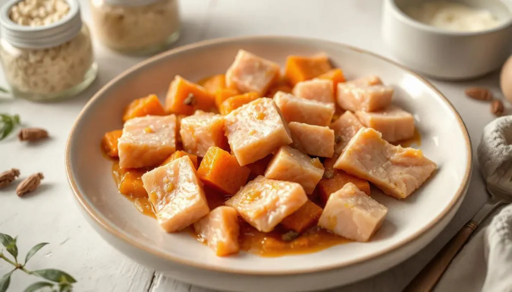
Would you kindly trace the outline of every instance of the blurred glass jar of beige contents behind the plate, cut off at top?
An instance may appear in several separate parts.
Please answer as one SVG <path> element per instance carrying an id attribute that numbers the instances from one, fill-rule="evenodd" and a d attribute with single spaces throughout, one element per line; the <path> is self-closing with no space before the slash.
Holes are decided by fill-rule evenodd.
<path id="1" fill-rule="evenodd" d="M 95 32 L 105 46 L 152 54 L 179 37 L 178 0 L 91 0 Z"/>

